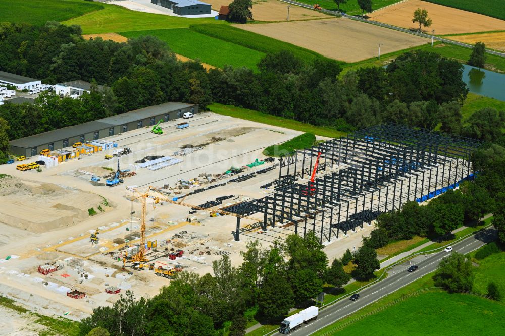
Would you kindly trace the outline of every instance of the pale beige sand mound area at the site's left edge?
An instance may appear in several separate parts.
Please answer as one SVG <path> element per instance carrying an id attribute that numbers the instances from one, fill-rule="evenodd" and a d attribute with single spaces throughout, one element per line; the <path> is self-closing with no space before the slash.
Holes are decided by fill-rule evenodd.
<path id="1" fill-rule="evenodd" d="M 35 233 L 75 225 L 89 218 L 88 209 L 105 209 L 103 202 L 99 195 L 76 188 L 0 179 L 0 223 Z"/>

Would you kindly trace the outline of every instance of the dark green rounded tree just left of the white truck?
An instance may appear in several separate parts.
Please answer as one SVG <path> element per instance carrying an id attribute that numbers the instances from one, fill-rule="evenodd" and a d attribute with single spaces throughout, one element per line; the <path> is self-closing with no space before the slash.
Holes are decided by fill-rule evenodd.
<path id="1" fill-rule="evenodd" d="M 258 306 L 260 313 L 267 319 L 276 319 L 286 315 L 294 306 L 294 295 L 287 279 L 277 273 L 266 277 Z"/>

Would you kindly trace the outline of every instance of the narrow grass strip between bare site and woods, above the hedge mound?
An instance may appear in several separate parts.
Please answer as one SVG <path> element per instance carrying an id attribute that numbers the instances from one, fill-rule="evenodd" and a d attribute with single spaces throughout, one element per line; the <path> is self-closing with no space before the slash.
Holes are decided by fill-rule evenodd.
<path id="1" fill-rule="evenodd" d="M 234 118 L 254 121 L 257 123 L 284 127 L 295 131 L 312 133 L 322 137 L 338 138 L 340 136 L 346 135 L 345 132 L 340 132 L 329 127 L 314 126 L 306 123 L 301 123 L 299 121 L 272 116 L 266 113 L 232 105 L 213 103 L 209 105 L 208 108 L 212 112 L 223 116 L 230 116 Z"/>

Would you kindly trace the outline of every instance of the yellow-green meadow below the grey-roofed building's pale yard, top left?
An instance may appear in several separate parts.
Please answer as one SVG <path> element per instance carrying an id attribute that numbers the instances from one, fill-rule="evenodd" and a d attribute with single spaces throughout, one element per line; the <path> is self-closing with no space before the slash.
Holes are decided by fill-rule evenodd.
<path id="1" fill-rule="evenodd" d="M 136 12 L 121 6 L 103 4 L 104 9 L 64 21 L 66 25 L 79 25 L 84 34 L 118 33 L 132 30 L 188 28 L 191 24 L 226 24 L 214 18 L 187 19 L 162 14 Z"/>

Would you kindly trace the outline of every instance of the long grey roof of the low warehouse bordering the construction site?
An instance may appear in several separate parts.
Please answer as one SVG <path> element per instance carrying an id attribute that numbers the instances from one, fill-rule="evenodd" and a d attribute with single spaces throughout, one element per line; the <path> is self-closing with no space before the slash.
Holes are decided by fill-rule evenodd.
<path id="1" fill-rule="evenodd" d="M 160 105 L 154 105 L 125 112 L 120 115 L 111 116 L 95 121 L 90 121 L 84 124 L 68 126 L 58 130 L 48 131 L 40 134 L 31 135 L 29 137 L 9 141 L 11 146 L 30 148 L 46 143 L 51 143 L 71 137 L 79 136 L 98 130 L 107 129 L 109 127 L 120 126 L 138 120 L 162 115 L 167 112 L 176 111 L 178 109 L 194 106 L 193 104 L 185 104 L 181 102 L 168 102 Z"/>

